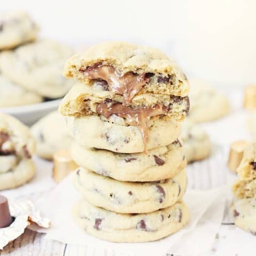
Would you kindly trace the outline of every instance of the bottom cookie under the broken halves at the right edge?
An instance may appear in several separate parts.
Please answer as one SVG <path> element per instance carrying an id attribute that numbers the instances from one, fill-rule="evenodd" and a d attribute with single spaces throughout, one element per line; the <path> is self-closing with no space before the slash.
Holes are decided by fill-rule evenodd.
<path id="1" fill-rule="evenodd" d="M 243 198 L 236 200 L 231 206 L 231 214 L 235 225 L 256 235 L 256 198 Z"/>

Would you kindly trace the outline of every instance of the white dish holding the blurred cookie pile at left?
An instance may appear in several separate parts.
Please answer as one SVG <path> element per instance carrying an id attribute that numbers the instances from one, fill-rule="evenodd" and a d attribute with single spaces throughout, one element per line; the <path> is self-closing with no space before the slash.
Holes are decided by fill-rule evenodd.
<path id="1" fill-rule="evenodd" d="M 33 105 L 0 108 L 0 112 L 17 117 L 26 125 L 34 124 L 38 119 L 57 110 L 62 99 L 45 101 Z"/>

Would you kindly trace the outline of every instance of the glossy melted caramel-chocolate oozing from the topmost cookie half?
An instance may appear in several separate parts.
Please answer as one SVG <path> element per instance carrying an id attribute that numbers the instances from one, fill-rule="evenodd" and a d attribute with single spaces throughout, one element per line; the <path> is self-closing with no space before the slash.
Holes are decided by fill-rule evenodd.
<path id="1" fill-rule="evenodd" d="M 145 74 L 126 73 L 119 75 L 111 66 L 94 65 L 87 67 L 83 71 L 84 75 L 90 79 L 102 79 L 107 81 L 110 91 L 123 95 L 125 106 L 128 106 L 132 98 L 141 90 L 149 78 Z"/>

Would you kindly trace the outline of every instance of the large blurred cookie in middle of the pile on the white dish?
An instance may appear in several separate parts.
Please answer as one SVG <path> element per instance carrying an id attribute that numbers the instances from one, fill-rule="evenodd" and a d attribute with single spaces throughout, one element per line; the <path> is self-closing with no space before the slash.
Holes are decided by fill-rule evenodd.
<path id="1" fill-rule="evenodd" d="M 43 97 L 59 98 L 73 85 L 62 76 L 65 60 L 73 54 L 68 46 L 41 39 L 0 53 L 0 70 L 14 83 Z"/>

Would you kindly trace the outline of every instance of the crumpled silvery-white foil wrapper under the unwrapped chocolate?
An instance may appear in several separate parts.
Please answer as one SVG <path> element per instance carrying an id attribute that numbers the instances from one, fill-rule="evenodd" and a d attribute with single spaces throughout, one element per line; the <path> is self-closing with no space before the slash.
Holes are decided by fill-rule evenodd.
<path id="1" fill-rule="evenodd" d="M 29 201 L 9 201 L 13 222 L 9 227 L 0 229 L 0 250 L 25 232 L 30 223 L 36 223 L 42 228 L 50 227 L 50 220 L 43 218 L 34 204 Z"/>

